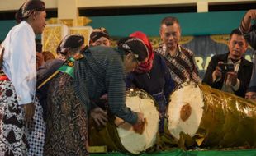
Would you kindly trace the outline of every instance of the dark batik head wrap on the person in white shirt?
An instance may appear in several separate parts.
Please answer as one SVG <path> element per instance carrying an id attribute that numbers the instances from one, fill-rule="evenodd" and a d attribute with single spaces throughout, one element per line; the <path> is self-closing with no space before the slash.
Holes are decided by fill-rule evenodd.
<path id="1" fill-rule="evenodd" d="M 17 23 L 20 23 L 31 16 L 33 11 L 45 11 L 45 2 L 40 0 L 27 0 L 24 2 L 15 14 Z"/>

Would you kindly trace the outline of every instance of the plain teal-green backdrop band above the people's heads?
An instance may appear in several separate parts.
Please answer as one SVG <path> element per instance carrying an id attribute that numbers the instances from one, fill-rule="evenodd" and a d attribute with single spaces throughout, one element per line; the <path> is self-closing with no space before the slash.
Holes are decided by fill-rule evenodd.
<path id="1" fill-rule="evenodd" d="M 111 36 L 127 36 L 140 30 L 148 36 L 159 36 L 159 23 L 165 16 L 178 17 L 183 35 L 230 34 L 239 26 L 245 11 L 217 11 L 206 13 L 150 14 L 131 16 L 92 16 L 93 28 L 105 27 Z M 16 21 L 0 20 L 0 40 L 16 25 Z M 40 36 L 37 36 L 40 39 Z"/>

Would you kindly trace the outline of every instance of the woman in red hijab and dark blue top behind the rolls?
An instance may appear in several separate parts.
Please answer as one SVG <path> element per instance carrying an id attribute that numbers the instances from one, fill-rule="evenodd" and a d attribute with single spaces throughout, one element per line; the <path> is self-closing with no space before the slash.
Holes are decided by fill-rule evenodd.
<path id="1" fill-rule="evenodd" d="M 159 106 L 161 114 L 159 122 L 159 132 L 164 132 L 164 113 L 166 111 L 168 94 L 174 88 L 173 80 L 171 79 L 168 68 L 164 62 L 164 58 L 158 53 L 154 53 L 153 48 L 146 34 L 136 31 L 130 34 L 130 37 L 141 39 L 148 48 L 149 57 L 141 63 L 140 66 L 135 68 L 127 76 L 127 88 L 144 89 L 147 93 L 151 94 Z"/>

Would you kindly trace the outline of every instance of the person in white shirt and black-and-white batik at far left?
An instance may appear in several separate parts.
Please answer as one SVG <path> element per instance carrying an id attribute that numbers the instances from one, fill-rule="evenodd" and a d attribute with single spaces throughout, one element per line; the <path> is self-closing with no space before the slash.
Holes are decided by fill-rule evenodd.
<path id="1" fill-rule="evenodd" d="M 43 32 L 45 17 L 44 2 L 27 0 L 17 11 L 18 25 L 2 43 L 5 50 L 0 80 L 0 155 L 43 154 L 45 123 L 35 98 L 35 34 Z"/>

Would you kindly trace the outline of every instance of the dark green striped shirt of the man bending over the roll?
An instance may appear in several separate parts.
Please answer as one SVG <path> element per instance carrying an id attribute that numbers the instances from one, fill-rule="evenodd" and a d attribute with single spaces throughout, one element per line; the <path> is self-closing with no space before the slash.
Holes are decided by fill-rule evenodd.
<path id="1" fill-rule="evenodd" d="M 78 99 L 90 109 L 94 105 L 91 101 L 107 93 L 110 112 L 135 124 L 137 115 L 126 108 L 124 52 L 97 46 L 83 54 L 85 57 L 75 61 L 74 67 L 74 90 Z"/>

